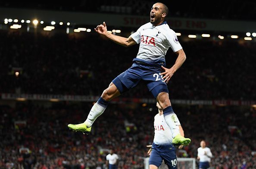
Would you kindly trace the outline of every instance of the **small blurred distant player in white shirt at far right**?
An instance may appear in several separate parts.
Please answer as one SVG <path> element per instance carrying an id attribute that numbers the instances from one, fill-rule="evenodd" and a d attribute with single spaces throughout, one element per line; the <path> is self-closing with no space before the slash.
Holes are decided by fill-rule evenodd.
<path id="1" fill-rule="evenodd" d="M 197 148 L 197 159 L 199 160 L 199 169 L 208 169 L 212 158 L 211 150 L 206 147 L 204 140 L 200 142 L 200 148 Z"/>

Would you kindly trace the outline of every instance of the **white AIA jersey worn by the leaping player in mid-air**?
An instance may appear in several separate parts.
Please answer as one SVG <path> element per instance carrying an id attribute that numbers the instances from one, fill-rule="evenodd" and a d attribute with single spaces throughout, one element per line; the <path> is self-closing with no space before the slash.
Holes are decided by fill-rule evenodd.
<path id="1" fill-rule="evenodd" d="M 158 26 L 153 26 L 150 22 L 144 24 L 131 34 L 131 38 L 137 44 L 140 43 L 136 58 L 149 62 L 156 59 L 165 60 L 165 54 L 169 47 L 174 52 L 182 49 L 175 32 L 170 29 L 166 22 Z"/>

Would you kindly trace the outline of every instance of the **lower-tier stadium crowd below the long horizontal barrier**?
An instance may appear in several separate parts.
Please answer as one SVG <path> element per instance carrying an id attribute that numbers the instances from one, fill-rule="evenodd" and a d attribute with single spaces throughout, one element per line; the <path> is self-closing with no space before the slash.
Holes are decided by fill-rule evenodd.
<path id="1" fill-rule="evenodd" d="M 153 141 L 155 105 L 110 104 L 92 133 L 68 130 L 82 122 L 92 103 L 33 102 L 0 106 L 0 169 L 106 169 L 109 149 L 119 169 L 144 169 L 146 145 Z M 151 111 L 150 111 L 150 108 Z M 197 157 L 202 139 L 211 148 L 214 169 L 255 169 L 256 110 L 237 107 L 174 106 L 191 145 L 179 157 Z M 186 155 L 187 154 L 187 155 Z"/>

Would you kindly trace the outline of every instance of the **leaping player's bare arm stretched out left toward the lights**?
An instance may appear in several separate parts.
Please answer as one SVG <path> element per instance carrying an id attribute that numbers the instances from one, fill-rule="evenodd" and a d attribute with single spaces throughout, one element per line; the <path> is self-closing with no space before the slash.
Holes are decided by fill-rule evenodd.
<path id="1" fill-rule="evenodd" d="M 98 25 L 96 28 L 94 28 L 94 30 L 99 34 L 106 36 L 108 39 L 112 40 L 113 42 L 125 47 L 129 47 L 131 45 L 137 44 L 134 41 L 134 39 L 131 38 L 131 36 L 129 36 L 128 38 L 125 38 L 122 36 L 117 36 L 117 35 L 113 35 L 112 33 L 109 33 L 107 31 L 105 22 L 103 22 L 103 24 Z"/>

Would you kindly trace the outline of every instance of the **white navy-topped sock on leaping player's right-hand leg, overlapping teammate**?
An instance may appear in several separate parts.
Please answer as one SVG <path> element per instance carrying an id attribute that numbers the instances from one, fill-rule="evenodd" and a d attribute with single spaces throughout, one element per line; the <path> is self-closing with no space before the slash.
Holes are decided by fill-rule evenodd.
<path id="1" fill-rule="evenodd" d="M 181 124 L 177 115 L 173 112 L 172 106 L 168 106 L 165 109 L 163 109 L 163 115 L 166 124 L 170 127 L 172 131 L 172 138 L 175 138 L 177 134 L 180 134 L 179 125 Z"/>

